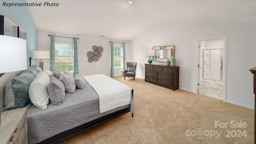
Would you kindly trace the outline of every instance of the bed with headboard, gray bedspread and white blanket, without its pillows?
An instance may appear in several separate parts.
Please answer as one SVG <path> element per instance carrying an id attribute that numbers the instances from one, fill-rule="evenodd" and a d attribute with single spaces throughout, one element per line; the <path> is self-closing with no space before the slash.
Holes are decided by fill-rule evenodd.
<path id="1" fill-rule="evenodd" d="M 18 75 L 19 72 L 10 72 L 0 77 L 2 109 L 5 84 Z M 83 78 L 85 88 L 76 88 L 74 93 L 66 92 L 62 105 L 49 103 L 46 109 L 35 105 L 27 109 L 29 144 L 60 142 L 130 111 L 133 117 L 132 89 L 103 74 Z M 110 101 L 120 97 L 125 97 L 124 101 Z"/>

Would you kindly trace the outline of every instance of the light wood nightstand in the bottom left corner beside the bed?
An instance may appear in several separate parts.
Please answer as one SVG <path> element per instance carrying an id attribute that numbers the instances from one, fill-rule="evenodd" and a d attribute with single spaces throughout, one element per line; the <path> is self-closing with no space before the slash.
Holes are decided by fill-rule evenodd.
<path id="1" fill-rule="evenodd" d="M 18 108 L 1 113 L 0 144 L 27 144 L 27 108 Z"/>

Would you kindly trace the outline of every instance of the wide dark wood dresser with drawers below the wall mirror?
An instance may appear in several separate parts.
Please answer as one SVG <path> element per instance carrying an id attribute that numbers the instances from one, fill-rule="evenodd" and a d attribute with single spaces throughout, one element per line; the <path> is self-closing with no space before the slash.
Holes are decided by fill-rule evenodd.
<path id="1" fill-rule="evenodd" d="M 145 64 L 145 82 L 152 82 L 175 91 L 179 88 L 179 68 L 180 66 Z"/>

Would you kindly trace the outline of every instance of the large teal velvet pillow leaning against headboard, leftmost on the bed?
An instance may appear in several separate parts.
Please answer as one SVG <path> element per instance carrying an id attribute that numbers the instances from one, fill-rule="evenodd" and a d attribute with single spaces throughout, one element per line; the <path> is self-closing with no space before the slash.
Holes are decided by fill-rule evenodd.
<path id="1" fill-rule="evenodd" d="M 7 82 L 4 96 L 5 111 L 31 106 L 28 89 L 37 73 L 34 68 L 28 68 Z"/>

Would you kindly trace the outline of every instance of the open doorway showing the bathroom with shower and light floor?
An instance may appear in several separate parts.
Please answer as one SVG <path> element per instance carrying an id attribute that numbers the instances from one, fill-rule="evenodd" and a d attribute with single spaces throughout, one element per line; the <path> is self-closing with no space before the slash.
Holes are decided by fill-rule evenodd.
<path id="1" fill-rule="evenodd" d="M 226 37 L 196 41 L 198 93 L 225 101 Z"/>

